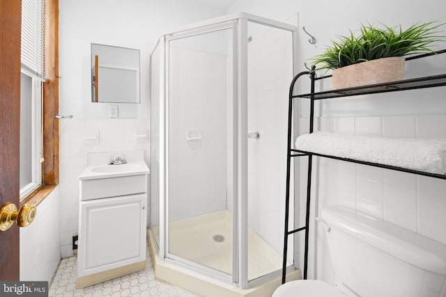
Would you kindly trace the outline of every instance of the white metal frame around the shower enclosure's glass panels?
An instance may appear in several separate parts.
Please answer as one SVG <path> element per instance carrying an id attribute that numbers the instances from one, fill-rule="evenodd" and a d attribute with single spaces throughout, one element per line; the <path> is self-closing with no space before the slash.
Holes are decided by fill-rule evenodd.
<path id="1" fill-rule="evenodd" d="M 247 191 L 247 24 L 254 22 L 272 28 L 291 31 L 293 45 L 293 76 L 298 73 L 297 45 L 298 35 L 295 26 L 276 22 L 271 19 L 237 13 L 225 17 L 217 17 L 208 21 L 183 26 L 183 28 L 162 35 L 160 46 L 160 257 L 166 262 L 192 268 L 199 273 L 208 273 L 229 283 L 237 284 L 241 289 L 249 287 L 280 275 L 281 269 L 268 273 L 254 280 L 248 280 L 248 191 Z M 233 93 L 233 131 L 232 131 L 232 179 L 233 186 L 233 257 L 232 275 L 203 266 L 190 260 L 169 253 L 169 42 L 194 35 L 212 33 L 226 29 L 232 30 L 232 93 Z M 156 47 L 156 46 L 155 46 Z M 291 78 L 290 78 L 291 79 Z M 299 109 L 296 108 L 296 111 Z M 296 125 L 296 124 L 295 124 Z M 285 128 L 285 127 L 284 127 Z M 295 129 L 295 131 L 297 131 Z M 297 168 L 297 167 L 295 167 Z M 295 187 L 296 188 L 296 187 Z M 296 191 L 295 191 L 296 192 Z M 294 222 L 298 217 L 298 204 L 293 209 Z M 297 236 L 295 236 L 297 237 Z M 296 246 L 298 239 L 295 238 Z M 294 263 L 289 269 L 296 267 L 298 249 L 294 248 Z"/>

